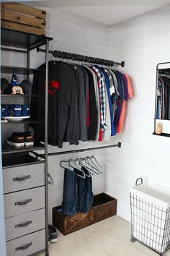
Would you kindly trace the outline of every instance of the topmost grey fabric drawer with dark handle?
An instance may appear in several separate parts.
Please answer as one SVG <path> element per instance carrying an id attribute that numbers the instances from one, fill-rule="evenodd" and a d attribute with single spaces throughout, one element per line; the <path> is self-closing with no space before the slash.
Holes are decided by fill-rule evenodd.
<path id="1" fill-rule="evenodd" d="M 3 169 L 4 194 L 45 184 L 44 163 Z"/>

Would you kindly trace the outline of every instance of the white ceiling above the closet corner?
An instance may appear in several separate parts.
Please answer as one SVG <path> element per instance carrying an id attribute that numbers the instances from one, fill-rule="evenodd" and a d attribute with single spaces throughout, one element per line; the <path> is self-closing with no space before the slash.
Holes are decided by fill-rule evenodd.
<path id="1" fill-rule="evenodd" d="M 165 7 L 170 0 L 42 0 L 34 7 L 53 7 L 90 20 L 113 25 L 146 12 Z"/>

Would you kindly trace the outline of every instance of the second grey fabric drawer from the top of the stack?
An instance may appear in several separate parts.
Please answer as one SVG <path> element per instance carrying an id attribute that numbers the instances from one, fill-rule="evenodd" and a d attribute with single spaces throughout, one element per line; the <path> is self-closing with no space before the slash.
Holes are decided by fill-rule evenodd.
<path id="1" fill-rule="evenodd" d="M 5 218 L 45 208 L 45 187 L 4 195 Z"/>

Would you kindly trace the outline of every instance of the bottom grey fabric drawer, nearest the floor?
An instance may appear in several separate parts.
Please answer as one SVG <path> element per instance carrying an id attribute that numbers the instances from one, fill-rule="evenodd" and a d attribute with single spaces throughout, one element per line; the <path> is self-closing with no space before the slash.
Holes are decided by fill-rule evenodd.
<path id="1" fill-rule="evenodd" d="M 45 249 L 45 229 L 6 242 L 6 256 L 28 256 Z"/>

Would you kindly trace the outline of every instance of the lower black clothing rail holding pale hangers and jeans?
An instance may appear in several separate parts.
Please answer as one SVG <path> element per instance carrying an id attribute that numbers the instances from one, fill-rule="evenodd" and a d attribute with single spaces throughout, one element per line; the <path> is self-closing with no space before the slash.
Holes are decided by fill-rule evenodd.
<path id="1" fill-rule="evenodd" d="M 95 147 L 95 148 L 82 148 L 79 150 L 68 150 L 68 151 L 63 151 L 63 152 L 53 152 L 53 153 L 48 153 L 48 156 L 51 155 L 65 155 L 65 154 L 71 154 L 71 153 L 79 153 L 79 152 L 85 152 L 85 151 L 89 151 L 89 150 L 99 150 L 99 149 L 105 149 L 105 148 L 121 148 L 121 142 L 118 142 L 115 145 L 108 145 L 108 146 L 102 146 L 102 147 Z M 33 154 L 36 155 L 36 157 L 42 157 L 44 158 L 44 155 L 38 154 L 36 152 L 32 152 Z"/>

